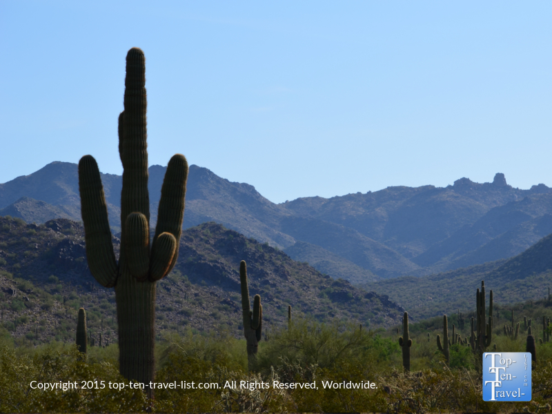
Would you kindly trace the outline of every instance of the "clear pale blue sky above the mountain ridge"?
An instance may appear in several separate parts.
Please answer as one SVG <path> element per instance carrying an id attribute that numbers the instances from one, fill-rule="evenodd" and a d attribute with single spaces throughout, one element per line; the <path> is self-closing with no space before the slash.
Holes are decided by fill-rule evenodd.
<path id="1" fill-rule="evenodd" d="M 161 5 L 159 5 L 161 3 Z M 0 182 L 121 174 L 125 57 L 152 164 L 277 203 L 455 179 L 552 186 L 551 1 L 0 1 Z"/>

